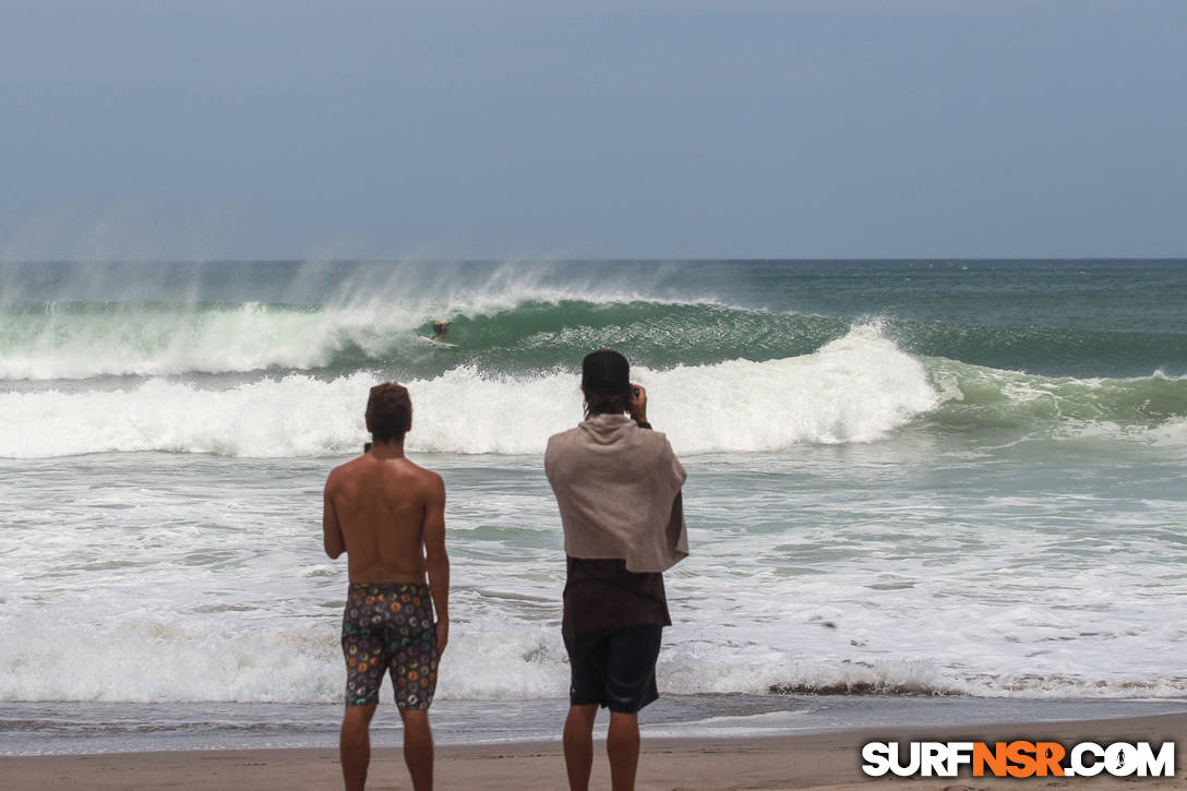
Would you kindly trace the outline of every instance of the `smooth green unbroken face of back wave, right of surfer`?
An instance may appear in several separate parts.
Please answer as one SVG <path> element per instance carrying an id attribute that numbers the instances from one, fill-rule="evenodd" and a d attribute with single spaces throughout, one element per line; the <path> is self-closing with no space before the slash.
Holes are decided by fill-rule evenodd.
<path id="1" fill-rule="evenodd" d="M 648 367 L 776 360 L 811 354 L 855 325 L 875 323 L 910 354 L 1047 375 L 1187 374 L 1187 336 L 1176 333 L 1001 328 L 858 319 L 726 305 L 633 302 L 527 303 L 514 311 L 458 316 L 450 340 L 493 367 L 570 368 L 595 348 L 616 348 Z M 477 361 L 477 360 L 476 360 Z"/>

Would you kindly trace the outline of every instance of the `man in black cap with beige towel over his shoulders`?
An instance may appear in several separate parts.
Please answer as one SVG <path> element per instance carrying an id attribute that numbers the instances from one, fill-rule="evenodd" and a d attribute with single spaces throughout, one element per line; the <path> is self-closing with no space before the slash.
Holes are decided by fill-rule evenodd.
<path id="1" fill-rule="evenodd" d="M 671 626 L 664 571 L 687 557 L 684 467 L 647 423 L 647 392 L 630 366 L 602 349 L 582 361 L 585 420 L 553 435 L 544 456 L 565 531 L 561 631 L 572 681 L 565 765 L 589 789 L 594 720 L 610 709 L 607 753 L 614 791 L 635 787 L 641 708 L 659 697 L 655 660 Z M 624 412 L 629 413 L 627 417 Z"/>

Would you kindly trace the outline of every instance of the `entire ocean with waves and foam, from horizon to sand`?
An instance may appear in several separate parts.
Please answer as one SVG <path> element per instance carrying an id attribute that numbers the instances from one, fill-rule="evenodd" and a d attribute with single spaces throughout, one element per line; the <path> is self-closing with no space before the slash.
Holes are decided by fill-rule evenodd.
<path id="1" fill-rule="evenodd" d="M 688 470 L 645 733 L 1183 710 L 1183 305 L 1185 260 L 0 265 L 0 753 L 336 743 L 322 486 L 385 380 L 447 488 L 438 739 L 559 738 L 541 461 L 603 347 Z"/>

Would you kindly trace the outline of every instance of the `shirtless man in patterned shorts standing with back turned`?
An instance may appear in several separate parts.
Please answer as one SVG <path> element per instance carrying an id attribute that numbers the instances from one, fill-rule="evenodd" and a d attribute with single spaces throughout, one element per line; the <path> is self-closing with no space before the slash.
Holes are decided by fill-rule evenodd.
<path id="1" fill-rule="evenodd" d="M 370 721 L 385 672 L 392 676 L 404 720 L 412 786 L 433 787 L 429 704 L 449 640 L 445 485 L 405 457 L 404 435 L 411 428 L 408 391 L 392 382 L 372 387 L 370 448 L 335 468 L 325 482 L 325 553 L 337 558 L 345 552 L 350 571 L 342 618 L 347 711 L 339 742 L 347 791 L 361 791 L 367 783 Z"/>

